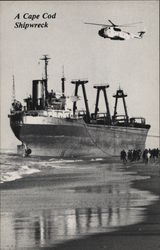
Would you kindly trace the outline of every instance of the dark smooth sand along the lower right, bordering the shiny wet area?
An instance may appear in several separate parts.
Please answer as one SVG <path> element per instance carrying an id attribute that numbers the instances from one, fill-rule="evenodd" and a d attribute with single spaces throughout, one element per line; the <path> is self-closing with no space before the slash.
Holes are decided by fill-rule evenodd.
<path id="1" fill-rule="evenodd" d="M 148 165 L 134 163 L 127 171 L 136 171 L 150 179 L 134 181 L 132 187 L 150 191 L 159 196 L 158 201 L 147 206 L 142 223 L 118 228 L 118 231 L 100 233 L 84 239 L 39 249 L 54 250 L 159 250 L 160 249 L 160 162 Z"/>

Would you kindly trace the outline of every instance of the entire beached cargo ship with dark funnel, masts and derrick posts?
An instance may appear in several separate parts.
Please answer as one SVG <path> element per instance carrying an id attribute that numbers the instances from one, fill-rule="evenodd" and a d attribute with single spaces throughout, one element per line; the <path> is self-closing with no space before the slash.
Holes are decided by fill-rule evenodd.
<path id="1" fill-rule="evenodd" d="M 122 89 L 115 98 L 114 113 L 111 115 L 106 89 L 109 85 L 94 86 L 97 91 L 94 113 L 90 113 L 85 84 L 87 80 L 73 80 L 74 96 L 65 95 L 65 77 L 61 78 L 62 93 L 48 91 L 45 55 L 45 78 L 33 80 L 32 95 L 24 99 L 26 105 L 14 99 L 9 114 L 10 126 L 22 142 L 19 149 L 26 155 L 52 157 L 107 157 L 119 155 L 121 150 L 145 148 L 150 125 L 142 117 L 129 118 Z M 82 87 L 85 111 L 77 109 L 78 90 Z M 106 112 L 99 112 L 99 98 L 103 93 Z M 73 102 L 67 107 L 67 98 Z M 124 105 L 124 115 L 117 114 L 118 100 Z"/>

